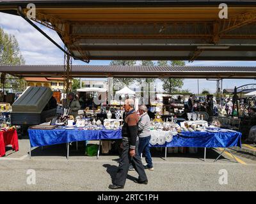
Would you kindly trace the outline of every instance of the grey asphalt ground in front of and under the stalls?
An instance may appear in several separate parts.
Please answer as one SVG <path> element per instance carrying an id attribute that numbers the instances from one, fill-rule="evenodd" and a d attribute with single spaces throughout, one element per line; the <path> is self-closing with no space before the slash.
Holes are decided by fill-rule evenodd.
<path id="1" fill-rule="evenodd" d="M 28 139 L 19 140 L 19 151 L 7 147 L 0 158 L 0 191 L 113 191 L 108 189 L 118 168 L 118 155 L 84 156 L 83 143 L 76 150 L 70 147 L 66 157 L 65 145 L 33 149 L 29 159 Z M 221 149 L 204 149 L 197 154 L 167 154 L 152 150 L 154 171 L 147 170 L 148 184 L 136 184 L 136 171 L 129 171 L 124 189 L 118 191 L 255 191 L 256 161 L 236 156 L 238 163 Z M 145 158 L 143 158 L 145 163 Z M 35 184 L 28 182 L 29 170 L 35 172 Z M 225 172 L 225 173 L 223 173 Z M 223 182 L 223 175 L 225 182 Z M 222 178 L 222 179 L 221 179 Z M 222 180 L 222 182 L 220 182 Z"/>

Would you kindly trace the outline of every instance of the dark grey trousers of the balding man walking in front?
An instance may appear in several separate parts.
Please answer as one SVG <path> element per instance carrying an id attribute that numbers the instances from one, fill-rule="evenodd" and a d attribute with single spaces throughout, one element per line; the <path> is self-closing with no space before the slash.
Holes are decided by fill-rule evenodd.
<path id="1" fill-rule="evenodd" d="M 139 141 L 136 142 L 136 149 L 135 149 L 136 154 L 134 157 L 131 158 L 129 154 L 130 144 L 129 142 L 123 141 L 123 151 L 120 158 L 116 177 L 113 180 L 113 184 L 116 184 L 118 186 L 124 186 L 130 163 L 132 163 L 132 166 L 134 166 L 134 169 L 139 174 L 139 180 L 140 181 L 147 180 L 147 175 L 145 173 L 143 164 L 141 163 L 141 158 L 138 154 L 138 143 Z"/>

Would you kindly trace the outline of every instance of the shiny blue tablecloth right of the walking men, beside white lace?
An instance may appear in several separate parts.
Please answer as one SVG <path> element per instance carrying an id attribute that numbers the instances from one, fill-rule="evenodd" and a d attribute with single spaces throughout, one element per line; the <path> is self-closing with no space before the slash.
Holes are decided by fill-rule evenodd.
<path id="1" fill-rule="evenodd" d="M 182 132 L 173 136 L 171 142 L 164 145 L 150 145 L 150 147 L 241 147 L 239 132 Z"/>

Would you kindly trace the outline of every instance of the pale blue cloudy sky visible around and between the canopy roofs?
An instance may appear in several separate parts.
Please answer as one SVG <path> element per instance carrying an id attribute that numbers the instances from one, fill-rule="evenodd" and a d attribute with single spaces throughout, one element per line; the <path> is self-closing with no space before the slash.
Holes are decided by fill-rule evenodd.
<path id="1" fill-rule="evenodd" d="M 63 46 L 58 34 L 51 29 L 39 25 L 52 39 Z M 26 20 L 21 17 L 0 13 L 0 27 L 6 33 L 15 35 L 19 41 L 20 50 L 26 60 L 26 64 L 63 64 L 63 53 L 47 40 L 41 33 L 36 31 Z M 91 65 L 108 65 L 110 61 L 91 61 Z M 73 61 L 72 64 L 86 64 L 81 61 Z M 137 62 L 140 64 L 140 61 Z M 256 66 L 256 62 L 239 61 L 195 61 L 186 62 L 188 66 Z M 243 84 L 256 83 L 255 80 L 223 80 L 223 89 L 234 88 Z M 200 92 L 204 89 L 215 92 L 216 82 L 199 80 Z M 185 79 L 182 89 L 189 89 L 197 93 L 197 79 Z"/>

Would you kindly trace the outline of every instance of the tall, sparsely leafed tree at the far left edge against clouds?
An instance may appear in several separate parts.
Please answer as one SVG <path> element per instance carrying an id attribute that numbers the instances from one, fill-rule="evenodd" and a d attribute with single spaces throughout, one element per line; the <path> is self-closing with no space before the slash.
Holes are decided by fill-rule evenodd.
<path id="1" fill-rule="evenodd" d="M 0 27 L 0 65 L 21 65 L 25 60 L 20 52 L 19 43 L 15 36 L 4 33 Z M 23 79 L 15 79 L 11 75 L 5 76 L 5 88 L 13 88 L 15 91 L 24 91 L 26 83 Z M 3 84 L 0 85 L 3 87 Z"/>

